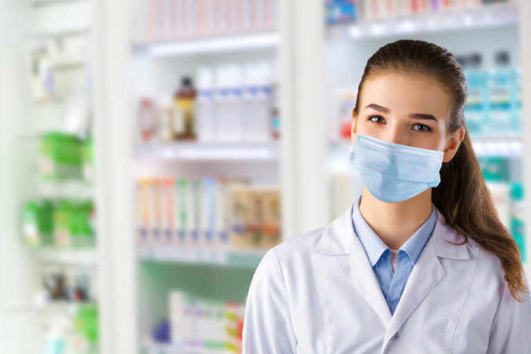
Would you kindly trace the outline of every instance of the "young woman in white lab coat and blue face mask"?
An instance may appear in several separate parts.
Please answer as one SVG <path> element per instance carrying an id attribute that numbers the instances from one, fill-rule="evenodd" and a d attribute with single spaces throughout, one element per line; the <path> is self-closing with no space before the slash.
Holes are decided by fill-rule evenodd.
<path id="1" fill-rule="evenodd" d="M 351 161 L 362 196 L 265 254 L 243 353 L 531 353 L 519 248 L 472 150 L 463 69 L 400 40 L 367 62 Z"/>

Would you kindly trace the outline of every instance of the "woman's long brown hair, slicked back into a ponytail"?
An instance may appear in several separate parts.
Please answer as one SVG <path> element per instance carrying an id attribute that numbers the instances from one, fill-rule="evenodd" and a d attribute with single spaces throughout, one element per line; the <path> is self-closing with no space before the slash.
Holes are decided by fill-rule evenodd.
<path id="1" fill-rule="evenodd" d="M 357 91 L 355 114 L 359 112 L 360 93 L 371 76 L 386 72 L 418 73 L 436 77 L 451 95 L 449 134 L 465 127 L 458 151 L 440 169 L 440 184 L 431 190 L 431 200 L 447 223 L 470 237 L 485 250 L 499 257 L 505 281 L 514 297 L 523 301 L 527 293 L 520 250 L 510 232 L 501 223 L 465 125 L 463 111 L 467 101 L 467 83 L 463 68 L 447 49 L 426 41 L 402 39 L 382 46 L 369 58 Z M 463 244 L 460 243 L 460 244 Z"/>

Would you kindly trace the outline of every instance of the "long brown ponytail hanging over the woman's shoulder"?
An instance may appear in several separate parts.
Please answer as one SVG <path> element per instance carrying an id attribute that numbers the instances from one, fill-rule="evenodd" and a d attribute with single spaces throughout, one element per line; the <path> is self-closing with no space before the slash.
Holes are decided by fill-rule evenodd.
<path id="1" fill-rule="evenodd" d="M 440 169 L 440 184 L 431 189 L 431 201 L 454 227 L 501 261 L 505 281 L 514 299 L 528 292 L 524 281 L 520 249 L 501 223 L 481 167 L 465 133 L 458 151 Z"/>

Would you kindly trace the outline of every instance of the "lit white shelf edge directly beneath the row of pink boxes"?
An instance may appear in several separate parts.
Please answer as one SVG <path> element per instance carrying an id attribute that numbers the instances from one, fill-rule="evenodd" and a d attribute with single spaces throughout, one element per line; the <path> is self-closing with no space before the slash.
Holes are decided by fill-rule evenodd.
<path id="1" fill-rule="evenodd" d="M 176 39 L 133 44 L 133 54 L 154 57 L 222 53 L 238 50 L 275 48 L 279 44 L 277 32 L 258 32 L 198 39 Z"/>

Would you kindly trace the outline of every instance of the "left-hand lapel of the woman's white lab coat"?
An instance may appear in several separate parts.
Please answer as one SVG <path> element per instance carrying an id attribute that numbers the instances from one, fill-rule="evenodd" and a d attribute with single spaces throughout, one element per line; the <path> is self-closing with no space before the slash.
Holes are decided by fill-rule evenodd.
<path id="1" fill-rule="evenodd" d="M 337 267 L 341 268 L 340 270 L 348 283 L 364 297 L 365 301 L 378 314 L 384 326 L 387 326 L 391 320 L 391 312 L 363 245 L 354 232 L 352 224 L 353 206 L 351 205 L 342 216 L 325 227 L 316 252 L 336 257 L 339 254 L 348 254 L 347 261 L 337 262 Z"/>

